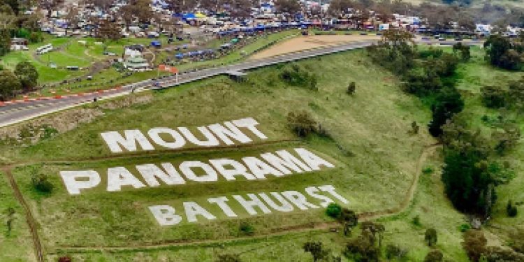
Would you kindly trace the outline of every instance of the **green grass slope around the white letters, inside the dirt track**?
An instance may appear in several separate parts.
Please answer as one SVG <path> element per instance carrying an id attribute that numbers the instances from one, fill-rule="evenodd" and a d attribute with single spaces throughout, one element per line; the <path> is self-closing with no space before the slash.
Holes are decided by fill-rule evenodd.
<path id="1" fill-rule="evenodd" d="M 181 88 L 154 93 L 153 100 L 145 105 L 132 105 L 115 110 L 89 105 L 88 108 L 92 110 L 103 110 L 104 115 L 90 124 L 78 126 L 77 129 L 55 138 L 20 150 L 12 149 L 13 154 L 6 154 L 13 156 L 9 161 L 65 161 L 65 166 L 60 163 L 38 163 L 14 170 L 17 182 L 42 226 L 42 239 L 46 243 L 46 249 L 53 253 L 61 250 L 61 247 L 68 246 L 133 247 L 187 239 L 235 238 L 238 235 L 238 219 L 220 217 L 219 221 L 184 223 L 172 228 L 160 228 L 147 211 L 147 206 L 154 203 L 168 203 L 180 209 L 180 203 L 186 199 L 203 203 L 202 200 L 205 201 L 205 198 L 210 196 L 285 189 L 303 190 L 309 185 L 333 184 L 349 199 L 348 208 L 357 212 L 384 210 L 399 205 L 414 173 L 419 172 L 414 169 L 423 146 L 434 143 L 425 131 L 418 136 L 409 135 L 407 132 L 412 121 L 428 122 L 428 110 L 418 99 L 403 94 L 393 75 L 373 66 L 363 51 L 308 59 L 300 61 L 300 64 L 306 68 L 316 68 L 321 64 L 325 68 L 326 73 L 319 75 L 318 92 L 289 87 L 277 81 L 280 66 L 262 68 L 249 73 L 247 82 L 236 83 L 225 77 L 194 82 Z M 345 94 L 347 84 L 351 81 L 357 84 L 354 96 Z M 297 143 L 277 143 L 240 150 L 162 152 L 160 155 L 144 154 L 142 157 L 129 156 L 124 159 L 94 160 L 89 163 L 75 160 L 112 155 L 99 136 L 103 131 L 136 128 L 147 130 L 154 126 L 194 128 L 240 117 L 255 117 L 261 123 L 263 133 L 275 142 L 294 138 L 286 125 L 286 115 L 291 110 L 312 112 L 328 130 L 332 139 L 311 137 Z M 235 182 L 221 180 L 212 184 L 189 183 L 184 187 L 125 190 L 120 193 L 96 189 L 80 197 L 66 194 L 58 177 L 59 170 L 95 168 L 105 173 L 105 168 L 111 166 L 133 166 L 136 163 L 160 161 L 179 163 L 188 159 L 217 157 L 238 159 L 240 156 L 256 156 L 277 149 L 289 150 L 298 145 L 330 159 L 337 168 L 254 182 L 240 179 Z M 30 177 L 31 173 L 35 172 L 34 168 L 38 172 L 50 175 L 56 188 L 52 195 L 42 196 L 32 189 Z M 233 209 L 241 214 L 240 219 L 254 225 L 255 235 L 277 230 L 281 226 L 329 221 L 323 210 L 249 217 L 239 206 L 233 206 Z M 71 212 L 64 213 L 64 210 Z M 221 213 L 212 210 L 214 214 Z M 257 242 L 253 245 L 260 247 L 266 244 L 268 243 Z M 286 240 L 277 250 L 290 245 L 300 246 L 296 242 Z M 342 247 L 341 244 L 335 246 L 339 249 Z M 240 245 L 226 249 L 243 248 L 245 246 Z M 150 252 L 145 256 L 154 258 L 160 256 L 159 254 L 164 253 Z M 183 251 L 173 254 L 173 257 L 177 257 L 177 254 L 187 253 Z M 122 257 L 136 255 L 131 252 L 122 254 Z M 300 249 L 288 255 L 275 255 L 284 255 L 289 259 L 304 257 Z M 102 259 L 101 256 L 105 255 L 78 256 Z M 115 256 L 107 255 L 105 259 L 110 260 Z M 199 251 L 184 261 L 191 261 L 200 256 L 209 258 L 209 250 Z"/>

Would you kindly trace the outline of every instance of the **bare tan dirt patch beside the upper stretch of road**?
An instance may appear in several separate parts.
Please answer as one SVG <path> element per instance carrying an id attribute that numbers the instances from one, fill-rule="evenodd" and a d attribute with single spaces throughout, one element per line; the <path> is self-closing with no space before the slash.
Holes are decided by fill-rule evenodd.
<path id="1" fill-rule="evenodd" d="M 297 52 L 312 48 L 321 48 L 326 45 L 336 45 L 351 41 L 362 40 L 379 40 L 380 36 L 361 36 L 361 35 L 329 35 L 329 36 L 298 36 L 291 38 L 288 41 L 278 43 L 272 47 L 257 52 L 249 59 L 262 59 L 265 57 L 273 57 L 279 54 L 286 54 L 289 52 Z"/>

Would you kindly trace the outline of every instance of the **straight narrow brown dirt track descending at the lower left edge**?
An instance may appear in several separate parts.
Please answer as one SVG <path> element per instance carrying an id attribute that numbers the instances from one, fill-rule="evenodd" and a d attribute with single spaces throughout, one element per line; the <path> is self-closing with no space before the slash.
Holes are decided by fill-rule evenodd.
<path id="1" fill-rule="evenodd" d="M 15 194 L 15 198 L 17 199 L 18 203 L 22 205 L 22 208 L 24 208 L 25 217 L 27 221 L 27 225 L 29 226 L 29 231 L 31 231 L 31 238 L 33 238 L 33 244 L 36 254 L 36 261 L 43 262 L 43 249 L 42 244 L 40 241 L 40 237 L 38 236 L 38 226 L 36 226 L 36 221 L 33 217 L 33 214 L 31 213 L 31 208 L 29 208 L 29 205 L 27 205 L 27 202 L 24 199 L 24 196 L 22 196 L 22 192 L 20 192 L 20 189 L 18 188 L 18 185 L 16 184 L 15 177 L 13 177 L 13 174 L 11 173 L 11 166 L 6 166 L 1 168 L 1 170 L 6 173 L 6 176 L 9 180 L 9 184 L 11 188 L 13 189 L 13 192 Z"/>

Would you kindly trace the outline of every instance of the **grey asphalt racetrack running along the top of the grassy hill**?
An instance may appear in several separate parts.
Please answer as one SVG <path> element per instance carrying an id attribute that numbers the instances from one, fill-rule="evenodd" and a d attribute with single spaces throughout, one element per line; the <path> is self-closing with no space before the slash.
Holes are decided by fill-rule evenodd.
<path id="1" fill-rule="evenodd" d="M 182 85 L 187 82 L 193 82 L 204 78 L 210 78 L 215 75 L 228 74 L 230 72 L 242 72 L 249 69 L 259 68 L 263 66 L 270 66 L 272 64 L 279 64 L 286 61 L 295 61 L 309 57 L 317 57 L 323 54 L 333 54 L 346 50 L 354 50 L 358 48 L 365 48 L 376 41 L 355 41 L 351 43 L 344 43 L 340 45 L 332 45 L 324 48 L 316 48 L 312 50 L 304 50 L 301 52 L 293 52 L 283 54 L 276 57 L 268 57 L 265 59 L 257 59 L 251 61 L 243 61 L 238 64 L 231 64 L 227 66 L 219 66 L 214 68 L 207 68 L 199 71 L 192 71 L 181 73 L 178 75 L 178 82 L 175 80 L 175 75 L 161 78 L 158 80 L 143 80 L 130 85 L 125 85 L 122 89 L 106 90 L 102 93 L 85 94 L 83 96 L 67 96 L 61 99 L 48 99 L 38 101 L 23 101 L 18 103 L 10 103 L 0 107 L 0 127 L 16 124 L 28 119 L 33 119 L 41 115 L 47 115 L 52 112 L 73 108 L 83 103 L 92 103 L 94 99 L 103 100 L 110 99 L 116 96 L 124 96 L 131 94 L 131 92 L 141 92 L 146 89 L 163 89 L 172 88 Z M 456 41 L 417 41 L 418 43 L 427 44 L 441 44 L 453 45 Z M 480 42 L 465 42 L 468 45 L 476 45 Z"/>

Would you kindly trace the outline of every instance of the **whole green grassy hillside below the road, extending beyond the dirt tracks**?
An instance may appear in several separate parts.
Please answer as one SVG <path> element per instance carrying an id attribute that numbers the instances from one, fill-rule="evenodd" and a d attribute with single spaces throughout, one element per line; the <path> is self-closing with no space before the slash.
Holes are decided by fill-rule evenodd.
<path id="1" fill-rule="evenodd" d="M 467 98 L 465 113 L 472 125 L 487 130 L 480 119 L 495 112 L 481 105 L 480 87 L 517 79 L 522 73 L 497 71 L 483 61 L 482 50 L 474 49 L 473 54 L 472 61 L 458 69 L 458 89 Z M 318 91 L 286 85 L 279 80 L 279 72 L 284 69 L 279 65 L 251 71 L 245 82 L 212 78 L 176 89 L 84 105 L 50 115 L 48 122 L 36 119 L 6 129 L 4 132 L 20 132 L 22 142 L 4 139 L 0 143 L 4 177 L 0 180 L 0 196 L 7 199 L 0 204 L 1 219 L 7 218 L 8 208 L 15 210 L 13 233 L 0 235 L 0 251 L 6 250 L 0 252 L 0 261 L 34 260 L 29 228 L 22 223 L 25 213 L 12 193 L 10 177 L 36 221 L 48 261 L 63 255 L 72 256 L 74 261 L 214 261 L 219 254 L 239 254 L 242 261 L 312 261 L 302 249 L 307 240 L 321 240 L 333 254 L 340 255 L 348 238 L 340 231 L 330 230 L 337 228 L 337 223 L 326 216 L 323 208 L 250 216 L 231 201 L 236 218 L 226 217 L 216 205 L 205 205 L 217 219 L 207 221 L 199 217 L 198 223 L 184 220 L 163 227 L 148 210 L 150 205 L 172 205 L 175 210 L 183 210 L 185 201 L 206 203 L 210 197 L 303 191 L 305 187 L 324 184 L 332 184 L 347 198 L 349 203 L 343 205 L 361 214 L 361 221 L 374 219 L 384 224 L 382 248 L 391 243 L 407 249 L 405 261 L 422 261 L 430 250 L 423 241 L 427 228 L 437 229 L 437 248 L 445 259 L 467 261 L 459 229 L 467 218 L 454 210 L 443 194 L 439 146 L 423 128 L 430 119 L 428 107 L 403 93 L 398 78 L 372 64 L 363 50 L 296 64 L 310 71 L 324 69 L 318 74 Z M 351 81 L 357 86 L 354 95 L 346 94 Z M 298 138 L 289 128 L 286 116 L 300 110 L 310 112 L 326 133 Z M 87 119 L 78 120 L 82 117 Z M 197 126 L 244 117 L 254 117 L 268 139 L 249 135 L 251 143 L 235 147 L 187 145 L 180 150 L 157 147 L 149 152 L 113 154 L 100 135 L 126 129 L 147 133 L 161 126 L 187 126 L 194 131 Z M 409 133 L 414 121 L 421 126 L 416 135 Z M 59 133 L 41 136 L 35 143 L 27 142 L 35 136 L 28 130 L 45 129 L 43 123 Z M 189 160 L 239 160 L 277 150 L 292 152 L 296 147 L 314 152 L 335 168 L 254 181 L 237 177 L 234 181 L 125 187 L 119 192 L 96 187 L 78 196 L 67 193 L 59 176 L 63 170 L 92 169 L 101 174 L 101 184 L 107 184 L 105 173 L 116 166 L 133 170 L 144 163 L 169 162 L 177 166 Z M 512 153 L 514 157 L 507 159 L 517 171 L 522 170 L 523 163 L 515 156 L 522 154 L 524 146 L 519 145 Z M 50 177 L 54 186 L 51 194 L 34 189 L 31 177 L 35 174 Z M 522 174 L 517 174 L 511 183 L 497 188 L 499 201 L 493 226 L 486 228 L 493 233 L 490 245 L 506 243 L 504 235 L 515 225 L 523 224 L 522 213 L 514 219 L 504 214 L 507 199 L 524 201 L 524 180 Z M 415 218 L 419 222 L 414 223 Z M 245 224 L 252 227 L 251 233 L 240 229 Z M 356 235 L 358 229 L 353 233 Z M 347 259 L 342 256 L 342 261 Z"/>

